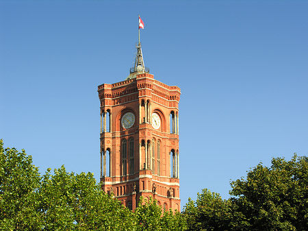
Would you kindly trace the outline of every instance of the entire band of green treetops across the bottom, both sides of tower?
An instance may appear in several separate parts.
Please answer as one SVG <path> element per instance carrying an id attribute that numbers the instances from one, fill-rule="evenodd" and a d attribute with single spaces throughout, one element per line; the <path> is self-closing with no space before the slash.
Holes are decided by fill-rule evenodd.
<path id="1" fill-rule="evenodd" d="M 272 158 L 231 182 L 231 197 L 203 189 L 182 213 L 140 199 L 131 212 L 92 173 L 41 175 L 25 151 L 0 140 L 0 230 L 307 230 L 308 158 Z"/>

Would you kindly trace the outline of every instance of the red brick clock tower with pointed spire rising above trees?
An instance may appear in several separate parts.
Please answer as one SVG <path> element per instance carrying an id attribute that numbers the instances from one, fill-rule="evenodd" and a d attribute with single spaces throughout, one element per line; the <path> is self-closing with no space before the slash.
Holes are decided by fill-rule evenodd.
<path id="1" fill-rule="evenodd" d="M 135 210 L 139 198 L 181 209 L 179 99 L 181 90 L 155 80 L 141 43 L 122 82 L 98 86 L 101 101 L 101 185 Z"/>

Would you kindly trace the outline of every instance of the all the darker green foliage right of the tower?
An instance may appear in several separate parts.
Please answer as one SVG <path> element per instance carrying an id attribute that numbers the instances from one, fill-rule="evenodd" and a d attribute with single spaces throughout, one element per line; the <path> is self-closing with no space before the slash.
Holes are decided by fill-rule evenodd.
<path id="1" fill-rule="evenodd" d="M 231 182 L 231 197 L 222 200 L 204 189 L 189 199 L 183 214 L 189 230 L 307 230 L 308 159 L 273 158 L 246 179 Z"/>

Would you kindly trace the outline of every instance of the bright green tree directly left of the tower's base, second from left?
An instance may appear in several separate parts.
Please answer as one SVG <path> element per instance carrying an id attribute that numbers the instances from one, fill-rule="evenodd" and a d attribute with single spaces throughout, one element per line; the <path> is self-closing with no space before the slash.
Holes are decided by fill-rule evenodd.
<path id="1" fill-rule="evenodd" d="M 133 230 L 133 215 L 100 190 L 92 173 L 48 169 L 40 188 L 44 230 Z"/>

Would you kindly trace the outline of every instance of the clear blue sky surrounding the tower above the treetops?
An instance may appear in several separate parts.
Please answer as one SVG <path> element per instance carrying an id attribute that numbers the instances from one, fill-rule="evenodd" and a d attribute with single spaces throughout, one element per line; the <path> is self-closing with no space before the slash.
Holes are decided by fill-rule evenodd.
<path id="1" fill-rule="evenodd" d="M 308 155 L 308 1 L 1 1 L 0 138 L 44 173 L 99 180 L 97 86 L 125 80 L 138 42 L 181 88 L 181 204 L 260 161 Z"/>

